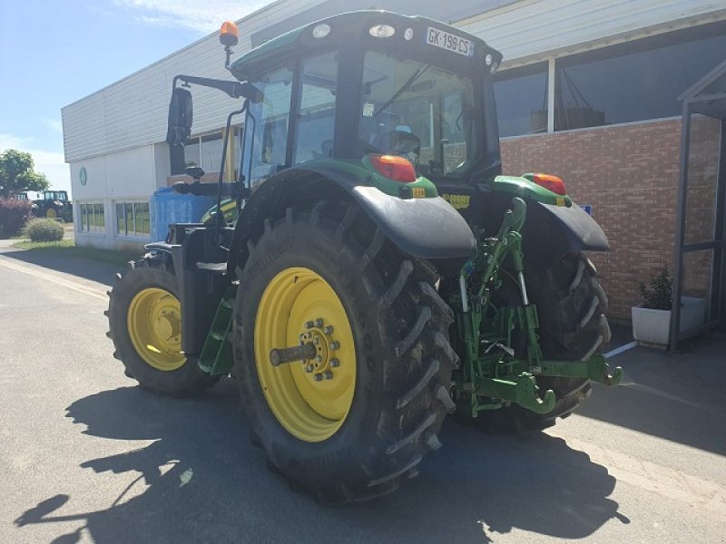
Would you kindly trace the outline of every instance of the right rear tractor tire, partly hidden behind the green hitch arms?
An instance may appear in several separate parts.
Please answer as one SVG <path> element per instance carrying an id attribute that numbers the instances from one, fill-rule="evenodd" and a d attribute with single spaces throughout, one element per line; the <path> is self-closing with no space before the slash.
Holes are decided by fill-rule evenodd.
<path id="1" fill-rule="evenodd" d="M 593 263 L 581 252 L 564 256 L 544 274 L 525 274 L 527 294 L 537 306 L 542 355 L 545 359 L 584 361 L 610 341 L 604 313 L 607 296 Z M 540 393 L 552 389 L 557 403 L 550 413 L 534 413 L 519 405 L 477 418 L 487 432 L 526 434 L 552 427 L 570 415 L 592 393 L 583 378 L 538 377 Z"/>

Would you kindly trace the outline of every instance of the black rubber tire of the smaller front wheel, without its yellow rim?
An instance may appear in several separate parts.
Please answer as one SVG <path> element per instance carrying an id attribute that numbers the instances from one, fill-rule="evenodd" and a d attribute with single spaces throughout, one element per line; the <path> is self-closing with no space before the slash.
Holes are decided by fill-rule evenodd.
<path id="1" fill-rule="evenodd" d="M 132 344 L 127 316 L 136 294 L 156 287 L 168 291 L 177 299 L 180 297 L 168 256 L 163 253 L 154 256 L 147 254 L 138 261 L 130 262 L 126 272 L 116 277 L 117 282 L 109 292 L 108 311 L 105 312 L 109 321 L 109 332 L 106 335 L 113 341 L 113 357 L 123 363 L 125 374 L 136 380 L 142 389 L 174 397 L 201 393 L 216 384 L 219 377 L 203 374 L 195 358 L 188 357 L 176 370 L 161 371 L 146 363 Z"/>

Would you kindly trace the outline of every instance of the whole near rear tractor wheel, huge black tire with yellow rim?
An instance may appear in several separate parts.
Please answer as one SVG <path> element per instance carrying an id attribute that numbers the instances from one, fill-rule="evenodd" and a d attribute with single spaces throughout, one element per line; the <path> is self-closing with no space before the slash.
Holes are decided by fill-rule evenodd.
<path id="1" fill-rule="evenodd" d="M 454 407 L 452 315 L 436 274 L 355 205 L 288 209 L 249 249 L 233 374 L 270 470 L 324 502 L 396 490 L 440 446 Z M 319 360 L 270 363 L 270 349 L 316 338 Z"/>

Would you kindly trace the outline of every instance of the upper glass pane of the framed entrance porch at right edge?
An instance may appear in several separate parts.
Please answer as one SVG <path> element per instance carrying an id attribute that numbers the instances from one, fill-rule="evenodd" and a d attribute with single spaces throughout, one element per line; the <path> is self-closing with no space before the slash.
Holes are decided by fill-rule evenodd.
<path id="1" fill-rule="evenodd" d="M 692 115 L 685 205 L 685 244 L 714 239 L 716 180 L 721 146 L 721 121 Z"/>

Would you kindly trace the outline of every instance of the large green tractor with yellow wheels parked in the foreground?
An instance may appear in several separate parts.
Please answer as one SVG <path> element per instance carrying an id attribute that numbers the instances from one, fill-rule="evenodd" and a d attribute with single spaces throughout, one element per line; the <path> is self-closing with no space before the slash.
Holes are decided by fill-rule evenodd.
<path id="1" fill-rule="evenodd" d="M 503 176 L 502 54 L 422 16 L 306 24 L 173 78 L 167 142 L 184 171 L 191 87 L 239 102 L 229 214 L 170 225 L 110 292 L 114 356 L 142 388 L 231 375 L 270 470 L 329 503 L 416 476 L 445 417 L 538 432 L 618 384 L 600 354 L 607 297 L 585 251 L 608 242 L 554 175 Z M 229 139 L 224 141 L 226 156 Z M 188 171 L 199 180 L 203 171 Z"/>

